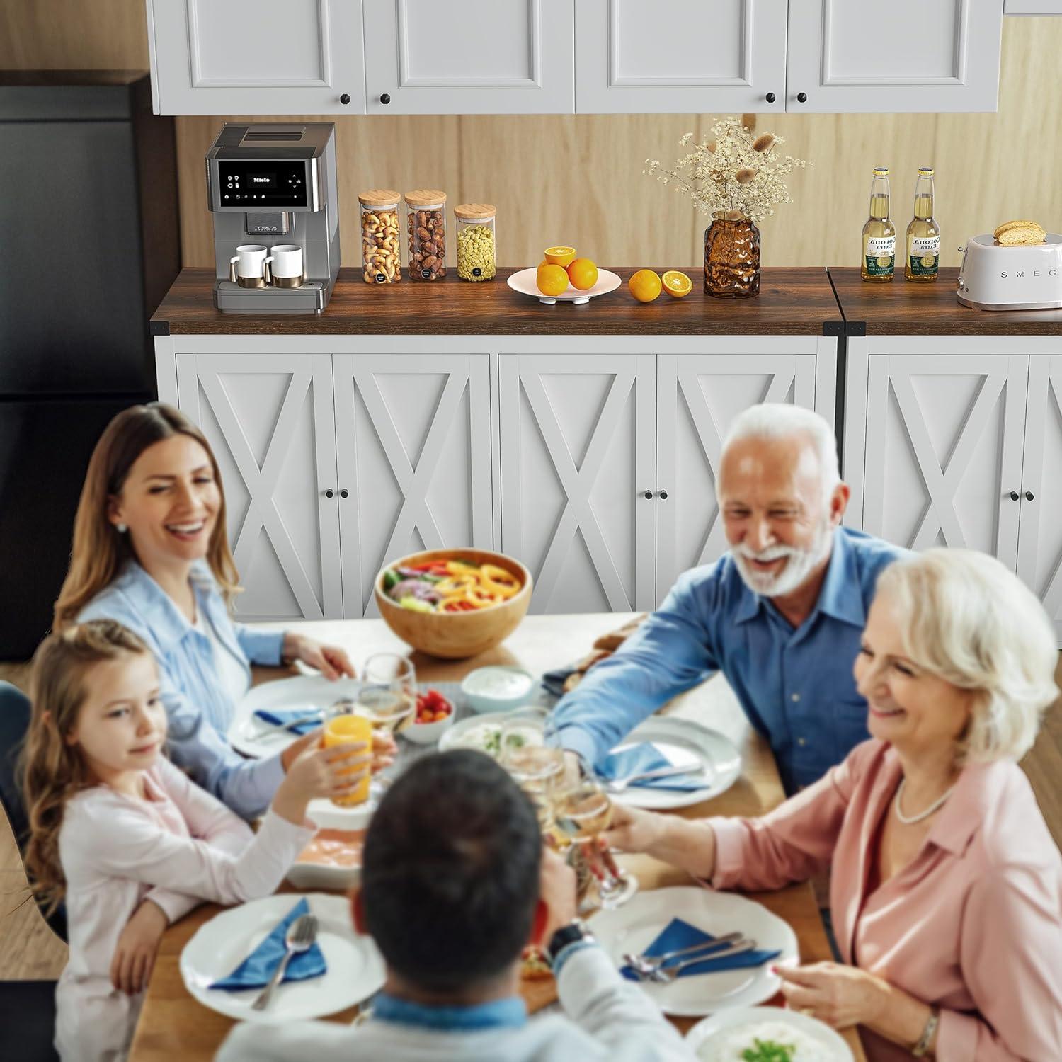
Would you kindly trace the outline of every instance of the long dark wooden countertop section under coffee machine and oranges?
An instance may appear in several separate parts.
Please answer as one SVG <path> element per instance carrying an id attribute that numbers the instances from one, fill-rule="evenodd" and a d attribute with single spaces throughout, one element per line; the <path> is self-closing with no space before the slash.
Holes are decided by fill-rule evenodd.
<path id="1" fill-rule="evenodd" d="M 687 267 L 693 290 L 685 298 L 663 293 L 636 303 L 627 290 L 633 269 L 617 269 L 623 286 L 583 306 L 544 306 L 513 291 L 499 269 L 493 280 L 469 284 L 449 270 L 442 280 L 404 276 L 396 285 L 366 285 L 360 269 L 340 270 L 320 314 L 221 313 L 213 307 L 215 275 L 182 270 L 152 316 L 156 335 L 324 336 L 823 336 L 842 322 L 824 269 L 765 269 L 759 295 L 713 298 L 704 270 Z M 663 271 L 658 271 L 663 272 Z"/>

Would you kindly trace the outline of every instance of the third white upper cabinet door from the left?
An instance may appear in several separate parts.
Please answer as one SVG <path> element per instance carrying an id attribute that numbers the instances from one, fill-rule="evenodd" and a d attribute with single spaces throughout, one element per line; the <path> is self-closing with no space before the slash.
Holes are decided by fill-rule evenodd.
<path id="1" fill-rule="evenodd" d="M 576 40 L 580 114 L 785 110 L 786 0 L 579 0 Z"/>

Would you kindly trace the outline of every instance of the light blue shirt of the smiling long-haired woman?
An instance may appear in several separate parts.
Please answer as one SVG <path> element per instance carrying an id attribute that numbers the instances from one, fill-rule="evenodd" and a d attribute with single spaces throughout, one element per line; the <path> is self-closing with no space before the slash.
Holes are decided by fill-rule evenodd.
<path id="1" fill-rule="evenodd" d="M 247 669 L 249 682 L 250 663 L 280 663 L 284 632 L 234 623 L 205 562 L 192 568 L 191 583 L 196 606 L 222 645 Z M 127 561 L 118 578 L 82 609 L 78 620 L 86 619 L 117 620 L 155 654 L 173 761 L 237 815 L 251 818 L 264 811 L 284 777 L 284 767 L 279 754 L 244 759 L 229 746 L 226 732 L 235 705 L 218 678 L 209 637 L 188 622 L 136 561 Z"/>

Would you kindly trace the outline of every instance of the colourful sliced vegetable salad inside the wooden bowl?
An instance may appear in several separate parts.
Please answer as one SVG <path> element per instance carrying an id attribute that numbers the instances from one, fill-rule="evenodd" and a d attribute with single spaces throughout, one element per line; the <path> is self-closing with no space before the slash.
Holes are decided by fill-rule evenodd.
<path id="1" fill-rule="evenodd" d="M 467 561 L 425 561 L 398 565 L 383 572 L 383 592 L 411 612 L 476 612 L 502 604 L 524 584 L 495 564 Z"/>

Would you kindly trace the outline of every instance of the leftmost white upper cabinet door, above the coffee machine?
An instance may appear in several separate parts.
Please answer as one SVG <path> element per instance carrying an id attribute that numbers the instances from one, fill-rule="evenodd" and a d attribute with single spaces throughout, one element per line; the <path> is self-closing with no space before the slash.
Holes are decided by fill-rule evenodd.
<path id="1" fill-rule="evenodd" d="M 148 42 L 156 114 L 365 113 L 355 0 L 148 0 Z"/>

